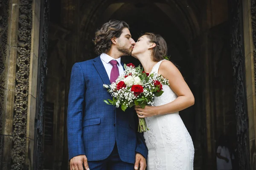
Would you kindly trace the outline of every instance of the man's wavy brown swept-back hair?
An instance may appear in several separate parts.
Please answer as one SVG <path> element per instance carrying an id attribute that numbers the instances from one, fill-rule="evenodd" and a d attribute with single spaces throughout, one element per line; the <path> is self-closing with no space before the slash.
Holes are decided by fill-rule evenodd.
<path id="1" fill-rule="evenodd" d="M 102 27 L 96 31 L 93 40 L 96 54 L 107 53 L 112 45 L 111 38 L 119 38 L 124 28 L 129 29 L 125 21 L 110 20 L 108 23 L 103 24 Z"/>

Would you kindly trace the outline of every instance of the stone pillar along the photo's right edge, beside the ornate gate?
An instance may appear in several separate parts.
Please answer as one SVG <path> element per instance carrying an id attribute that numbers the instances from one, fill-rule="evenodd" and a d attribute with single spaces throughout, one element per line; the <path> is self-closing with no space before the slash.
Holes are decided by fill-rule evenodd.
<path id="1" fill-rule="evenodd" d="M 256 169 L 256 0 L 243 0 L 244 56 L 249 118 L 250 162 Z"/>

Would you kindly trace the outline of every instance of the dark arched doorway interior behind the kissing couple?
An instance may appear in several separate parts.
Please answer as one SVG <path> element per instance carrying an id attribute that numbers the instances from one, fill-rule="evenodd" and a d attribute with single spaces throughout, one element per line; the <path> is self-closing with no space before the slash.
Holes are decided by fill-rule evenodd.
<path id="1" fill-rule="evenodd" d="M 52 102 L 64 99 L 67 101 L 69 74 L 71 67 L 74 62 L 79 62 L 87 59 L 96 57 L 93 52 L 92 39 L 96 29 L 105 23 L 109 19 L 125 20 L 131 26 L 131 33 L 136 39 L 140 31 L 152 31 L 163 35 L 169 44 L 169 55 L 171 60 L 175 62 L 186 78 L 189 86 L 192 88 L 195 94 L 196 104 L 194 107 L 189 108 L 181 112 L 183 121 L 185 122 L 189 132 L 192 134 L 195 147 L 195 167 L 208 167 L 208 164 L 215 162 L 215 140 L 221 132 L 225 131 L 226 126 L 230 124 L 230 121 L 234 121 L 235 117 L 232 112 L 233 105 L 231 104 L 233 99 L 223 99 L 223 97 L 232 92 L 232 79 L 231 83 L 220 85 L 225 79 L 228 79 L 231 72 L 227 72 L 224 76 L 220 77 L 221 71 L 225 70 L 225 65 L 228 65 L 228 69 L 232 70 L 231 62 L 228 51 L 228 47 L 224 42 L 227 42 L 229 37 L 227 35 L 228 20 L 225 13 L 224 19 L 215 18 L 211 16 L 210 20 L 207 17 L 207 11 L 204 8 L 215 8 L 216 4 L 201 3 L 200 5 L 195 3 L 188 3 L 186 1 L 111 1 L 111 0 L 98 0 L 98 1 L 83 1 L 79 5 L 74 2 L 74 5 L 70 1 L 65 1 L 67 5 L 64 11 L 67 12 L 66 18 L 62 19 L 63 26 L 67 29 L 74 31 L 73 35 L 70 35 L 67 39 L 66 50 L 67 54 L 59 55 L 59 45 L 52 47 L 54 53 L 49 54 L 51 56 L 51 63 L 56 61 L 54 65 L 49 64 L 49 91 L 58 91 L 61 88 L 61 82 L 64 79 L 65 90 L 59 96 L 52 96 L 47 94 L 47 98 L 51 99 Z M 221 3 L 221 2 L 218 2 Z M 227 9 L 227 4 L 221 3 L 224 10 Z M 76 6 L 77 5 L 77 6 Z M 210 7 L 209 7 L 210 6 Z M 73 8 L 79 9 L 75 14 Z M 203 11 L 203 16 L 199 15 L 199 9 Z M 210 9 L 209 9 L 210 10 Z M 64 12 L 64 14 L 65 14 Z M 211 11 L 211 15 L 214 15 L 214 11 Z M 153 16 L 151 16 L 153 14 Z M 208 14 L 210 15 L 210 14 Z M 74 16 L 77 16 L 77 20 L 72 20 Z M 213 20 L 213 21 L 212 21 Z M 183 21 L 183 22 L 180 22 Z M 207 23 L 209 22 L 209 23 Z M 61 30 L 61 27 L 56 27 L 52 24 L 55 29 Z M 51 31 L 50 31 L 51 32 Z M 55 33 L 55 37 L 58 36 L 58 31 L 52 31 Z M 61 31 L 59 32 L 61 33 Z M 215 37 L 215 38 L 214 38 Z M 50 40 L 50 43 L 55 41 Z M 64 39 L 59 39 L 58 43 L 65 42 Z M 58 44 L 55 43 L 55 44 Z M 229 42 L 227 42 L 228 44 Z M 212 52 L 214 51 L 214 52 Z M 69 56 L 72 56 L 70 57 Z M 226 57 L 225 57 L 226 56 Z M 223 65 L 219 65 L 219 58 L 225 57 Z M 56 60 L 57 59 L 57 60 Z M 125 61 L 133 61 L 134 59 L 125 57 Z M 50 61 L 50 60 L 49 60 Z M 66 68 L 65 74 L 58 73 L 58 67 Z M 56 67 L 58 66 L 58 67 Z M 54 74 L 52 74 L 54 73 Z M 57 74 L 58 73 L 58 74 Z M 61 76 L 60 79 L 57 78 Z M 230 76 L 231 77 L 231 76 Z M 53 81 L 55 80 L 55 81 Z M 60 81 L 61 80 L 61 81 Z M 228 79 L 230 80 L 230 79 Z M 51 86 L 55 85 L 55 87 Z M 222 83 L 224 84 L 224 83 Z M 63 84 L 62 84 L 63 85 Z M 63 87 L 62 87 L 63 89 Z M 65 96 L 63 96 L 65 93 Z M 60 97 L 61 95 L 61 97 Z M 220 102 L 224 102 L 226 106 L 220 105 Z M 63 111 L 63 105 L 57 105 L 56 107 L 61 108 Z M 65 108 L 67 103 L 65 103 Z M 65 110 L 65 109 L 64 109 Z M 60 113 L 55 113 L 60 115 Z M 228 116 L 229 119 L 223 121 L 223 117 Z M 63 121 L 63 118 L 55 117 L 58 121 Z M 64 118 L 64 122 L 66 118 Z M 64 123 L 64 122 L 60 122 Z M 220 126 L 217 126 L 217 125 Z M 56 125 L 56 127 L 59 127 Z M 61 129 L 64 128 L 61 126 Z M 63 129 L 60 130 L 63 132 Z M 57 132 L 57 131 L 55 131 Z M 65 133 L 65 128 L 64 128 Z M 62 133 L 61 133 L 62 134 Z M 56 134 L 58 136 L 58 134 Z M 58 164 L 64 166 L 64 160 L 67 159 L 67 144 L 66 136 L 59 136 L 58 142 L 64 139 L 64 157 L 49 150 L 45 156 L 49 157 L 55 154 L 55 163 L 47 161 L 47 164 L 54 164 L 53 167 L 58 167 Z M 58 137 L 55 137 L 58 138 Z M 62 144 L 61 144 L 62 145 Z M 55 147 L 54 147 L 55 146 Z M 56 144 L 49 148 L 59 148 Z M 52 163 L 51 163 L 52 162 Z M 214 167 L 212 167 L 214 168 Z"/>

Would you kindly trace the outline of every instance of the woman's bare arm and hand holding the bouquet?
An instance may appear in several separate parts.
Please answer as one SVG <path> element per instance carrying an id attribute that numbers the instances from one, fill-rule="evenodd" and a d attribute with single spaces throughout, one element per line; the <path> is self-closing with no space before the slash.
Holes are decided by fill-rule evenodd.
<path id="1" fill-rule="evenodd" d="M 177 99 L 161 106 L 146 106 L 144 109 L 136 107 L 135 110 L 140 118 L 175 113 L 194 105 L 195 98 L 186 84 L 177 67 L 170 61 L 163 61 L 159 68 L 159 74 L 169 79 L 170 88 L 177 95 Z M 144 116 L 140 116 L 141 114 Z"/>

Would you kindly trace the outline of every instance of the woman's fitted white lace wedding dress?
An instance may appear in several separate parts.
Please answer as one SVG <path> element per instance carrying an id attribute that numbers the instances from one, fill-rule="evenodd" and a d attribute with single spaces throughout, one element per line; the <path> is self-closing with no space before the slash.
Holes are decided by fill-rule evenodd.
<path id="1" fill-rule="evenodd" d="M 163 60 L 162 60 L 163 61 Z M 161 62 L 152 68 L 158 73 Z M 177 98 L 168 85 L 155 97 L 154 106 L 165 105 Z M 148 170 L 193 170 L 194 146 L 179 113 L 145 118 L 149 130 L 144 133 L 148 147 Z"/>

